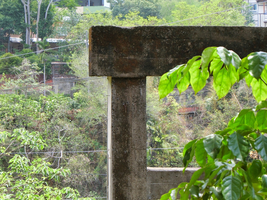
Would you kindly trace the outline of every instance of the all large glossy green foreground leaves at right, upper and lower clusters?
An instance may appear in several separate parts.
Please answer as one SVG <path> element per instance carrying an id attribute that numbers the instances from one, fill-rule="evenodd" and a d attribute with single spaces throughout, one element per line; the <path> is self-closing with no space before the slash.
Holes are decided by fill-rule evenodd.
<path id="1" fill-rule="evenodd" d="M 183 150 L 184 170 L 193 156 L 201 169 L 193 174 L 189 183 L 183 182 L 171 189 L 162 195 L 161 200 L 176 199 L 178 192 L 182 200 L 188 199 L 189 195 L 191 199 L 265 199 L 267 53 L 254 52 L 241 60 L 235 52 L 224 47 L 208 47 L 202 56 L 193 57 L 161 77 L 160 98 L 172 91 L 176 84 L 180 92 L 191 84 L 197 93 L 211 74 L 219 98 L 225 96 L 236 81 L 245 78 L 259 104 L 253 109 L 241 110 L 222 131 L 187 143 Z M 249 151 L 251 157 L 260 159 L 248 163 Z M 204 172 L 203 180 L 198 180 Z"/>

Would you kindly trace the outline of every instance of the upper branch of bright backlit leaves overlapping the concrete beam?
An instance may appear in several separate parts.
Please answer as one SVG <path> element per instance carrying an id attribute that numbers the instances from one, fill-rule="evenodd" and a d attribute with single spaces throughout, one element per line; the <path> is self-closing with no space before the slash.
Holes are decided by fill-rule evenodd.
<path id="1" fill-rule="evenodd" d="M 213 87 L 222 98 L 236 81 L 245 77 L 246 83 L 252 86 L 253 95 L 259 102 L 267 98 L 267 53 L 254 52 L 241 58 L 224 47 L 208 47 L 201 57 L 194 57 L 187 64 L 176 66 L 164 74 L 159 83 L 160 98 L 169 94 L 174 85 L 181 92 L 192 85 L 195 93 L 206 84 L 209 75 L 213 75 Z M 193 62 L 193 64 L 192 64 Z M 176 78 L 177 77 L 177 78 Z"/>

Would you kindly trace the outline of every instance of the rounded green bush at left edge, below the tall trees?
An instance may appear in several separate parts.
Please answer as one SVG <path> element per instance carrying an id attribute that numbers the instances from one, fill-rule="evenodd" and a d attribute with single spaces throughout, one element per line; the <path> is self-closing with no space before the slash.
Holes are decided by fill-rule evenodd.
<path id="1" fill-rule="evenodd" d="M 13 54 L 5 53 L 0 56 L 0 73 L 10 74 L 12 72 L 12 67 L 18 66 L 21 64 L 22 58 L 19 57 L 11 57 Z M 11 58 L 7 58 L 11 57 Z"/>

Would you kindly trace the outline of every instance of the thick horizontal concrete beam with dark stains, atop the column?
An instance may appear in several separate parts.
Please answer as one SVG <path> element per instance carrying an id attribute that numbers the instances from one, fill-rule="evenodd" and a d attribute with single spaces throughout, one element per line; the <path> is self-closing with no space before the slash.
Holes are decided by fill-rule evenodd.
<path id="1" fill-rule="evenodd" d="M 89 35 L 91 76 L 161 76 L 209 46 L 224 46 L 241 58 L 267 51 L 265 27 L 93 26 Z"/>

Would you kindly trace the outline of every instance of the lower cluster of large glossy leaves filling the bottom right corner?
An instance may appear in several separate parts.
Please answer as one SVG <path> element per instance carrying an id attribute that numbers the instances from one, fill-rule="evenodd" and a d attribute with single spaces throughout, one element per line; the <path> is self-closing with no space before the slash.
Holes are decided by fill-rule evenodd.
<path id="1" fill-rule="evenodd" d="M 179 191 L 181 199 L 188 199 L 189 194 L 192 199 L 266 198 L 267 119 L 263 116 L 267 110 L 262 105 L 267 105 L 267 101 L 261 101 L 253 110 L 241 110 L 226 129 L 185 146 L 185 166 L 195 155 L 202 168 L 193 174 L 189 183 L 174 189 L 176 194 Z M 261 160 L 247 163 L 251 146 Z M 204 179 L 197 180 L 203 172 Z M 161 199 L 176 199 L 176 195 L 171 196 L 172 191 Z"/>

